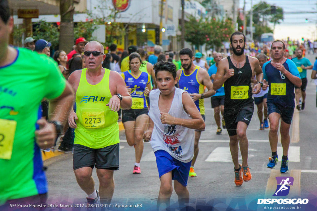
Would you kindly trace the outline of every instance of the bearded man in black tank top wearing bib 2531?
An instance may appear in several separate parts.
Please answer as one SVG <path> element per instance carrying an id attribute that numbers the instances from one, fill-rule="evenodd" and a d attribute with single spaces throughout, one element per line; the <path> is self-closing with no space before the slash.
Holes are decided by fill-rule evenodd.
<path id="1" fill-rule="evenodd" d="M 263 73 L 259 60 L 244 54 L 245 36 L 243 33 L 233 33 L 230 43 L 233 54 L 219 62 L 213 89 L 217 90 L 224 84 L 223 118 L 230 136 L 230 152 L 235 165 L 235 183 L 236 186 L 241 186 L 243 181 L 246 182 L 252 178 L 248 166 L 249 143 L 246 131 L 254 110 L 252 93 L 260 92 L 261 86 L 263 86 Z M 259 81 L 253 89 L 250 85 L 252 70 Z M 263 88 L 266 89 L 266 87 Z M 239 141 L 242 164 L 239 164 L 238 160 Z"/>

